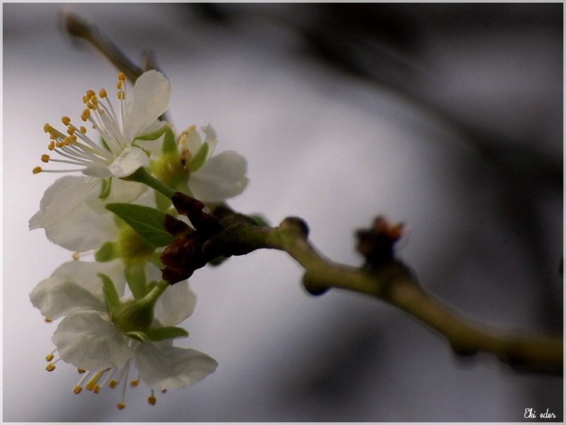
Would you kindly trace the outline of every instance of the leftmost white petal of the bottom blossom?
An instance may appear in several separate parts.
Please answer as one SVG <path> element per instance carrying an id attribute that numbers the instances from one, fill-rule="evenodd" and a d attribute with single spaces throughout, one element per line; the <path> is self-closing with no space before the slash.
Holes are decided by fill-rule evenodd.
<path id="1" fill-rule="evenodd" d="M 45 317 L 59 319 L 85 310 L 105 312 L 103 300 L 64 278 L 47 278 L 33 288 L 30 300 Z"/>

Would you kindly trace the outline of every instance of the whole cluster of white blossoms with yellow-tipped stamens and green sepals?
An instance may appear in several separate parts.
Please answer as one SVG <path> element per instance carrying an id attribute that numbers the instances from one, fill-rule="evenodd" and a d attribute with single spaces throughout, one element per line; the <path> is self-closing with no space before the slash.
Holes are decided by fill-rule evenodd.
<path id="1" fill-rule="evenodd" d="M 173 345 L 188 336 L 177 325 L 194 312 L 197 298 L 188 280 L 163 280 L 160 255 L 173 241 L 163 217 L 175 215 L 176 191 L 219 203 L 248 183 L 246 159 L 236 152 L 214 155 L 212 126 L 175 135 L 161 120 L 170 94 L 168 79 L 154 70 L 129 91 L 119 74 L 116 108 L 104 89 L 87 91 L 83 125 L 68 117 L 64 131 L 46 124 L 50 154 L 41 160 L 50 166 L 33 169 L 82 174 L 47 188 L 29 223 L 73 253 L 30 293 L 46 322 L 60 319 L 45 368 L 54 370 L 58 361 L 74 365 L 81 374 L 75 394 L 122 385 L 119 409 L 127 387 L 140 380 L 155 404 L 156 391 L 192 385 L 216 369 L 207 354 Z"/>

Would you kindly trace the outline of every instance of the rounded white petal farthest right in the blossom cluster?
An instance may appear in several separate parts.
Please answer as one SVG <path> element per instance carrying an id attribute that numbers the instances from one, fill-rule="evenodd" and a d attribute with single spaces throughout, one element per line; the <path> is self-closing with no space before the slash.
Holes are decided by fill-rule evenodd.
<path id="1" fill-rule="evenodd" d="M 239 195 L 248 186 L 246 158 L 233 151 L 221 152 L 191 174 L 189 188 L 203 202 L 219 202 Z"/>

